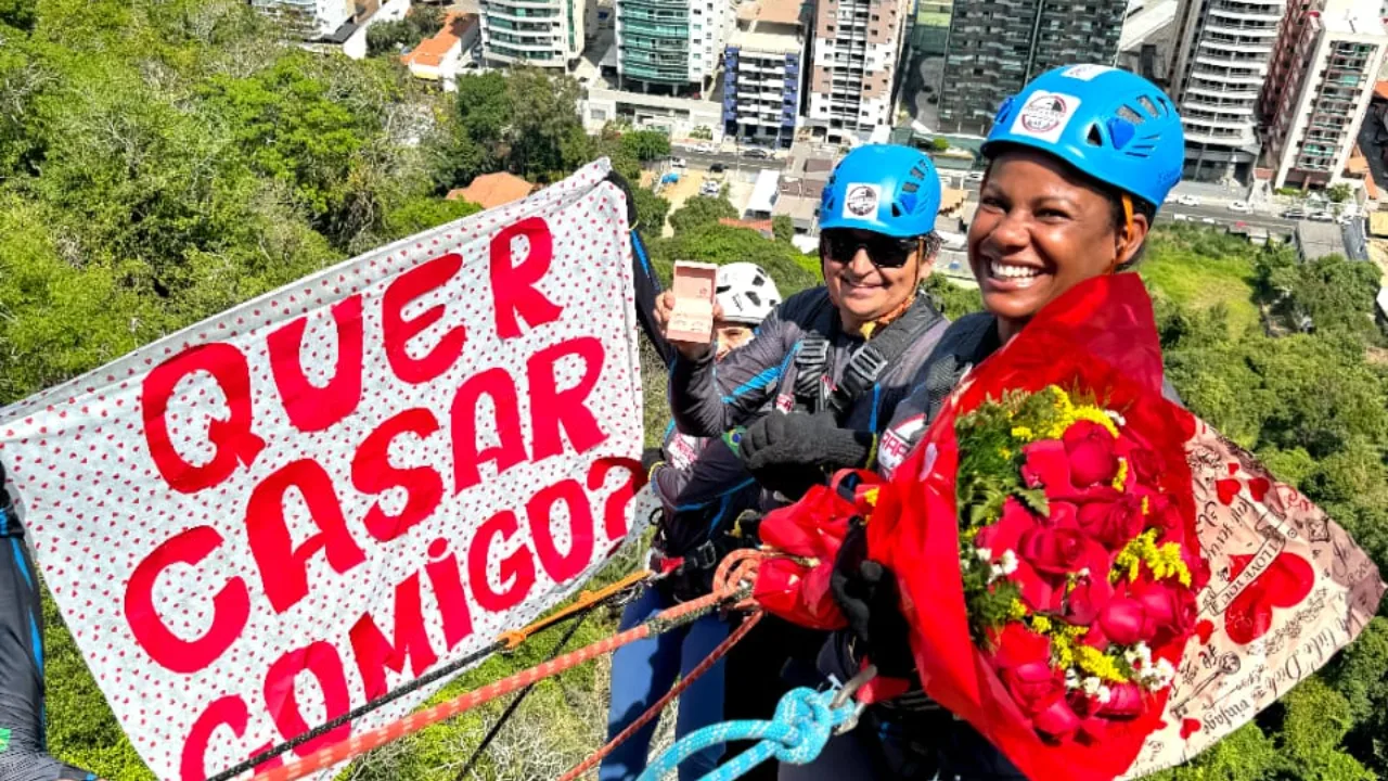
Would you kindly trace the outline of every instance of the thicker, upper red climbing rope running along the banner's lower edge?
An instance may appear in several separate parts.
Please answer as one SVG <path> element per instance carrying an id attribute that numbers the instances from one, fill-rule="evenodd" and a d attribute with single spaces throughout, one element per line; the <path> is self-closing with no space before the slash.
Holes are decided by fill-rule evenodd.
<path id="1" fill-rule="evenodd" d="M 751 579 L 755 578 L 755 563 L 759 561 L 761 557 L 762 553 L 755 550 L 734 552 L 719 564 L 713 578 L 713 592 L 708 596 L 702 596 L 683 605 L 676 605 L 669 610 L 662 610 L 638 627 L 633 627 L 618 635 L 601 639 L 593 645 L 545 661 L 539 667 L 522 670 L 511 677 L 494 681 L 480 689 L 459 695 L 448 702 L 441 702 L 411 713 L 409 716 L 391 724 L 386 724 L 384 727 L 378 727 L 376 730 L 362 732 L 361 735 L 353 735 L 346 741 L 319 749 L 307 757 L 289 760 L 280 767 L 255 775 L 254 781 L 294 781 L 308 775 L 310 773 L 326 770 L 335 764 L 378 749 L 386 743 L 398 741 L 405 735 L 412 735 L 425 727 L 452 718 L 454 716 L 477 707 L 479 705 L 523 689 L 536 681 L 558 675 L 559 673 L 583 664 L 584 661 L 604 653 L 611 653 L 623 645 L 695 621 L 701 616 L 705 616 L 720 606 L 726 606 L 725 603 L 733 603 L 734 607 L 747 605 L 747 598 L 751 595 Z"/>

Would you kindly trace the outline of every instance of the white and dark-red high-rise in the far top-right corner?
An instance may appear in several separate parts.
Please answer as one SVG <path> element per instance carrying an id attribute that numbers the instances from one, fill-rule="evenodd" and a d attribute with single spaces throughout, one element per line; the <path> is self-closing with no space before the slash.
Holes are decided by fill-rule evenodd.
<path id="1" fill-rule="evenodd" d="M 1273 186 L 1338 179 L 1369 113 L 1388 49 L 1382 17 L 1360 0 L 1312 0 L 1288 13 L 1263 90 Z"/>

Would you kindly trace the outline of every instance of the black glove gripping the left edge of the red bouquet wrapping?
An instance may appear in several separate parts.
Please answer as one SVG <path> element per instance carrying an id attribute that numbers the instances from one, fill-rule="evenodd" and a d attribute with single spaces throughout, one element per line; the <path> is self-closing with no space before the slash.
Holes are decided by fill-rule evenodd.
<path id="1" fill-rule="evenodd" d="M 866 655 L 883 675 L 908 678 L 916 668 L 911 655 L 911 627 L 901 614 L 897 577 L 867 559 L 867 529 L 854 523 L 834 559 L 829 591 Z"/>

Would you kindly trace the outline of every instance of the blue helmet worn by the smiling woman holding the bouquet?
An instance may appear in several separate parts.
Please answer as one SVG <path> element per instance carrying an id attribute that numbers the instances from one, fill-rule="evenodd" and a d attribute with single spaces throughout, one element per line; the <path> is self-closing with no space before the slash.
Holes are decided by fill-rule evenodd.
<path id="1" fill-rule="evenodd" d="M 1081 172 L 1160 206 L 1181 181 L 1185 133 L 1176 106 L 1152 82 L 1108 65 L 1041 74 L 998 108 L 983 153 L 1031 146 Z"/>

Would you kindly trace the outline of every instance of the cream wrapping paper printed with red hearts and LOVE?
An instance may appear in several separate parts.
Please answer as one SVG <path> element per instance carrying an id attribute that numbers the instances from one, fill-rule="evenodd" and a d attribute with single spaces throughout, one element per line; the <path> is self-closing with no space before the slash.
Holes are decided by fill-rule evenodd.
<path id="1" fill-rule="evenodd" d="M 1166 727 L 1148 737 L 1128 778 L 1181 764 L 1251 721 L 1349 645 L 1385 588 L 1320 507 L 1203 421 L 1187 460 L 1210 582 Z"/>

